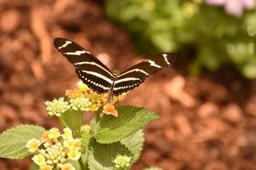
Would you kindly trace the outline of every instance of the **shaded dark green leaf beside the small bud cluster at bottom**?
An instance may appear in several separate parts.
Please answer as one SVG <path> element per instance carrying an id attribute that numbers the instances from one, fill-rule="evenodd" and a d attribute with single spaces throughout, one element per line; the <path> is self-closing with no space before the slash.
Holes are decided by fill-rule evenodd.
<path id="1" fill-rule="evenodd" d="M 100 144 L 96 140 L 90 143 L 88 166 L 90 170 L 113 170 L 113 160 L 116 156 L 131 156 L 125 145 L 115 142 L 113 144 Z"/>

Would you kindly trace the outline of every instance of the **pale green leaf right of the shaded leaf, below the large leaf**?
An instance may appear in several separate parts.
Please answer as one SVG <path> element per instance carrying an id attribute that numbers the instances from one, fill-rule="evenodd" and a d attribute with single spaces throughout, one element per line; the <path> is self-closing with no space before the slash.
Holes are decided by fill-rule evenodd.
<path id="1" fill-rule="evenodd" d="M 137 131 L 137 133 L 134 133 L 131 136 L 120 141 L 121 144 L 124 144 L 126 148 L 128 148 L 128 150 L 130 150 L 133 154 L 132 163 L 136 162 L 141 155 L 144 140 L 145 139 L 143 129 L 140 129 L 139 131 Z"/>

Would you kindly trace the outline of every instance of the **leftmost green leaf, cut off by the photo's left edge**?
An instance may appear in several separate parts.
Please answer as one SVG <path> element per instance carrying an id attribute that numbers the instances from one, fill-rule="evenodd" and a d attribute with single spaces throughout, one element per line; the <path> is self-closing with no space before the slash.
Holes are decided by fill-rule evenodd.
<path id="1" fill-rule="evenodd" d="M 20 125 L 0 134 L 0 157 L 20 159 L 31 155 L 26 148 L 30 139 L 41 139 L 45 129 L 33 125 Z"/>

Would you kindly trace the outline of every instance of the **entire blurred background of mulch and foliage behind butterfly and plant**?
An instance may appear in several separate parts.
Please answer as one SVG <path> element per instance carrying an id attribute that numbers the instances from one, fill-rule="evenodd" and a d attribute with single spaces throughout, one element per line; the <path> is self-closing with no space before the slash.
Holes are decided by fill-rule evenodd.
<path id="1" fill-rule="evenodd" d="M 161 116 L 145 129 L 132 169 L 256 169 L 255 0 L 0 0 L 0 35 L 1 132 L 59 126 L 44 101 L 79 79 L 55 37 L 78 42 L 111 69 L 172 51 L 173 67 L 122 101 Z M 29 163 L 0 159 L 0 169 Z"/>

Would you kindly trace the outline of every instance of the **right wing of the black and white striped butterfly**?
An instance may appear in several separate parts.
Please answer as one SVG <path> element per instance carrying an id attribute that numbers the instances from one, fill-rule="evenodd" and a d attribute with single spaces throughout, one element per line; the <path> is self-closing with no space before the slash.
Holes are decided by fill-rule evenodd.
<path id="1" fill-rule="evenodd" d="M 122 72 L 114 83 L 113 95 L 123 94 L 138 87 L 145 79 L 162 69 L 169 67 L 175 60 L 175 54 L 160 54 L 131 66 Z"/>

